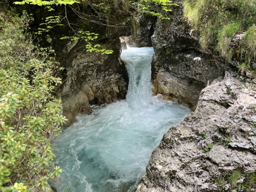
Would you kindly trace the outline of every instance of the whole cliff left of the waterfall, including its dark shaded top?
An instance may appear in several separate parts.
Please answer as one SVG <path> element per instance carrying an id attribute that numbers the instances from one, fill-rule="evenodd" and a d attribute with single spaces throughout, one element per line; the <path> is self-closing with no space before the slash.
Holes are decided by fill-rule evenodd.
<path id="1" fill-rule="evenodd" d="M 74 30 L 99 34 L 99 38 L 93 43 L 100 44 L 102 46 L 100 49 L 113 50 L 113 54 L 102 55 L 101 52 L 87 52 L 85 41 L 60 40 L 61 37 L 73 34 L 68 26 L 54 28 L 43 37 L 42 45 L 44 47 L 52 46 L 64 67 L 61 99 L 63 114 L 68 119 L 66 126 L 74 122 L 75 116 L 79 113 L 91 113 L 90 105 L 124 99 L 128 87 L 125 65 L 120 59 L 119 37 L 131 34 L 130 12 L 123 8 L 113 9 L 111 7 L 113 9 L 111 17 L 105 15 L 101 18 L 95 16 L 97 13 L 93 13 L 94 10 L 90 6 L 81 5 L 76 9 L 82 13 L 90 13 L 91 19 L 89 22 L 88 18 L 80 18 L 81 16 L 79 17 L 71 9 L 68 9 L 67 15 L 69 15 L 70 23 L 76 23 L 73 25 Z M 60 8 L 57 11 L 63 10 Z M 41 23 L 41 17 L 48 14 L 44 10 L 32 13 L 35 15 L 35 23 Z"/>

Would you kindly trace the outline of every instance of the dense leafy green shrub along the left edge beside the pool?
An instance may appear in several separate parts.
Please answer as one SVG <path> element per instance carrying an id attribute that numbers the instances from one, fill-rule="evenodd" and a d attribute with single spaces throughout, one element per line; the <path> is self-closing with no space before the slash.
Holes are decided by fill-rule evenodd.
<path id="1" fill-rule="evenodd" d="M 29 16 L 0 14 L 0 191 L 48 190 L 61 169 L 52 163 L 51 138 L 64 117 L 53 95 L 61 83 L 50 49 L 24 35 Z M 54 167 L 55 166 L 55 167 Z"/>

